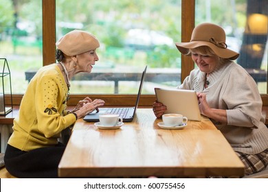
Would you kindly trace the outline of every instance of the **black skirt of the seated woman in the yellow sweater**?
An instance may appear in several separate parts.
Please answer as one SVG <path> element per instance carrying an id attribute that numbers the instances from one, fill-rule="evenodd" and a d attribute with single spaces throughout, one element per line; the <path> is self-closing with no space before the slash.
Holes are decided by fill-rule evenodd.
<path id="1" fill-rule="evenodd" d="M 24 152 L 8 145 L 4 157 L 5 169 L 18 178 L 58 178 L 58 164 L 65 147 L 63 143 L 58 143 Z"/>

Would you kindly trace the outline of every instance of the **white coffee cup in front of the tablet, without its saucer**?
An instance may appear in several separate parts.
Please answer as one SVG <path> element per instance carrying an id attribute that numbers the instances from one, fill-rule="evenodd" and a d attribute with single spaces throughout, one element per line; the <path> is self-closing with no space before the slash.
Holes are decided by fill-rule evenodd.
<path id="1" fill-rule="evenodd" d="M 170 113 L 170 114 L 164 114 L 162 116 L 164 125 L 166 126 L 179 126 L 183 123 L 187 123 L 188 119 L 187 117 L 183 117 L 183 115 Z"/>

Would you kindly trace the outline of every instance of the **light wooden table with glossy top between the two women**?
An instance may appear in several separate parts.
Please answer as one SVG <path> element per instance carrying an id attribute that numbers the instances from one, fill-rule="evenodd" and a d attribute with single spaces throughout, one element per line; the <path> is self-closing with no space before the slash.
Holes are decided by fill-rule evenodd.
<path id="1" fill-rule="evenodd" d="M 58 165 L 63 178 L 243 176 L 244 166 L 212 122 L 202 117 L 183 130 L 158 127 L 152 109 L 131 123 L 99 130 L 78 119 Z"/>

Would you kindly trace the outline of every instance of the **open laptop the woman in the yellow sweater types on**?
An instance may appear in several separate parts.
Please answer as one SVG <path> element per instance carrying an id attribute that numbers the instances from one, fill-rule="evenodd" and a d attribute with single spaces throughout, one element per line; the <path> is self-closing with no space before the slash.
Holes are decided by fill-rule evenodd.
<path id="1" fill-rule="evenodd" d="M 139 97 L 142 94 L 142 86 L 144 83 L 144 76 L 146 74 L 146 69 L 147 69 L 147 66 L 145 67 L 145 69 L 142 73 L 142 79 L 141 79 L 140 84 L 139 84 L 139 91 L 137 93 L 137 100 L 136 100 L 135 106 L 127 107 L 127 108 L 99 108 L 99 112 L 96 112 L 96 110 L 95 110 L 95 111 L 87 114 L 84 117 L 84 120 L 88 121 L 88 122 L 98 122 L 98 121 L 100 121 L 99 115 L 102 115 L 104 113 L 112 113 L 112 114 L 120 115 L 120 117 L 122 117 L 122 119 L 123 119 L 123 122 L 133 121 L 137 106 L 139 104 Z"/>

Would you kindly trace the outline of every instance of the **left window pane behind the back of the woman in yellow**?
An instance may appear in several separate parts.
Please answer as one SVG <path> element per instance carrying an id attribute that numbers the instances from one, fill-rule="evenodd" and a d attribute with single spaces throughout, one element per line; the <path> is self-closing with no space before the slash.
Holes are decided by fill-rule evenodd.
<path id="1" fill-rule="evenodd" d="M 43 66 L 42 1 L 2 0 L 0 9 L 0 57 L 8 60 L 12 93 L 21 94 L 27 71 Z"/>

